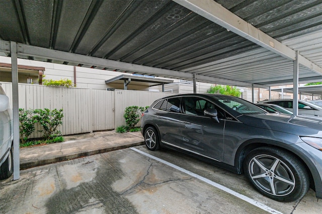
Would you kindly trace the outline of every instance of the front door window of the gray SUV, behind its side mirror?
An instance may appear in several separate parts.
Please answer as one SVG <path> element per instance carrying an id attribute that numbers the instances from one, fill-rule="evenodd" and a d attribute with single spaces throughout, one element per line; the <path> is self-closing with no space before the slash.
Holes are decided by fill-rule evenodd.
<path id="1" fill-rule="evenodd" d="M 207 108 L 217 109 L 218 118 L 224 118 L 224 112 L 208 100 L 199 97 L 184 97 L 184 112 L 189 115 L 204 116 L 204 110 Z"/>

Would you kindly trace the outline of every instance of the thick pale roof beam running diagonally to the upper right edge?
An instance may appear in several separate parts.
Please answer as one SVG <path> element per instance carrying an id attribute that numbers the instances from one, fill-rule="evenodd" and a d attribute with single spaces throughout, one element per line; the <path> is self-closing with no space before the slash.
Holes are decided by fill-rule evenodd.
<path id="1" fill-rule="evenodd" d="M 268 36 L 250 23 L 234 15 L 213 0 L 173 0 L 179 5 L 199 14 L 200 16 L 210 20 L 211 22 L 226 28 L 245 39 L 262 46 L 286 59 L 295 60 L 295 51 L 288 48 L 284 44 Z M 307 60 L 303 56 L 298 56 L 298 62 L 302 66 L 322 74 L 322 68 Z"/>

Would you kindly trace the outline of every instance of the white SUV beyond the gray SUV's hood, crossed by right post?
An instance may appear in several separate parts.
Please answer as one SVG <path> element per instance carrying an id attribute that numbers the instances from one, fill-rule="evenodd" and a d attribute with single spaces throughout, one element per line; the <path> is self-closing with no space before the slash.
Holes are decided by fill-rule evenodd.
<path id="1" fill-rule="evenodd" d="M 276 104 L 286 108 L 293 112 L 293 100 L 292 99 L 280 99 L 280 100 L 263 100 L 258 103 L 270 103 Z M 298 114 L 303 116 L 316 116 L 322 117 L 322 108 L 313 103 L 306 102 L 304 100 L 298 101 Z"/>

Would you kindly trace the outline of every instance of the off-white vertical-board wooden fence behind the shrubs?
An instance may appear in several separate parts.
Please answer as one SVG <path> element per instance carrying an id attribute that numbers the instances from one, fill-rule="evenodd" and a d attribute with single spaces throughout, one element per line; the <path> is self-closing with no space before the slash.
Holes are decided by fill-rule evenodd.
<path id="1" fill-rule="evenodd" d="M 12 101 L 12 84 L 2 82 Z M 173 93 L 88 88 L 65 88 L 19 84 L 19 108 L 63 109 L 63 135 L 115 129 L 125 125 L 128 106 L 149 106 L 154 100 Z M 40 126 L 30 138 L 41 137 Z"/>

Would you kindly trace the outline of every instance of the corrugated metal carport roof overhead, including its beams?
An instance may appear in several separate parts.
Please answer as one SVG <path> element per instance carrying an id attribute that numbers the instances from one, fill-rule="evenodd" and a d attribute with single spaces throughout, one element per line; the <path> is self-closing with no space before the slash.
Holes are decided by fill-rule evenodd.
<path id="1" fill-rule="evenodd" d="M 0 55 L 237 86 L 322 81 L 320 0 L 0 1 Z"/>

